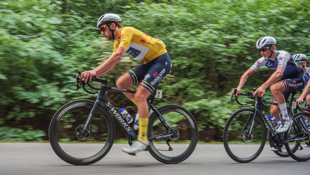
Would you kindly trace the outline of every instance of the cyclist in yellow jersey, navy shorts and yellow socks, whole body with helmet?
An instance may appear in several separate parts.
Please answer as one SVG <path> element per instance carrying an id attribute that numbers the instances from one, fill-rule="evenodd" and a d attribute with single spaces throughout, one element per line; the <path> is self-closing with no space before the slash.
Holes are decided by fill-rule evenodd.
<path id="1" fill-rule="evenodd" d="M 97 21 L 101 35 L 114 41 L 112 55 L 101 65 L 93 70 L 84 71 L 82 80 L 91 76 L 101 76 L 111 70 L 119 62 L 124 53 L 128 53 L 144 64 L 135 67 L 119 77 L 116 81 L 118 88 L 134 90 L 130 86 L 139 84 L 135 94 L 124 93 L 135 105 L 139 112 L 138 140 L 131 146 L 122 148 L 123 152 L 135 155 L 136 152 L 145 150 L 148 145 L 148 96 L 156 90 L 164 76 L 170 73 L 172 63 L 166 50 L 166 45 L 159 39 L 133 28 L 121 27 L 122 19 L 119 15 L 108 13 L 102 15 Z M 115 37 L 116 36 L 116 37 Z M 78 75 L 77 75 L 78 76 Z"/>

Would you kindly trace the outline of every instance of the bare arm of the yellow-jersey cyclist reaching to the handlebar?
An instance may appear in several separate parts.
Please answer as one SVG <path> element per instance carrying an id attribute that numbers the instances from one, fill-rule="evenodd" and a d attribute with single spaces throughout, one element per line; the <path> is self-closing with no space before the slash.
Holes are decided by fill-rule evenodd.
<path id="1" fill-rule="evenodd" d="M 88 79 L 88 77 L 92 77 L 94 75 L 100 77 L 101 75 L 107 73 L 115 66 L 117 62 L 119 62 L 122 59 L 125 51 L 126 49 L 124 47 L 119 46 L 116 52 L 113 53 L 105 62 L 103 62 L 93 70 L 84 71 L 81 75 L 82 80 L 85 81 Z M 90 81 L 91 79 L 89 79 L 89 82 Z"/>

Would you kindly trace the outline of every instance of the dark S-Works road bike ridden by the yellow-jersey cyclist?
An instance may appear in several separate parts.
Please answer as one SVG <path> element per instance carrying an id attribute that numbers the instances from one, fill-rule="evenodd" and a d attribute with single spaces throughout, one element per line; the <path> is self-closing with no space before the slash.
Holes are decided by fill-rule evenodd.
<path id="1" fill-rule="evenodd" d="M 54 152 L 62 160 L 73 165 L 89 165 L 102 159 L 111 149 L 115 139 L 115 125 L 111 114 L 129 133 L 128 143 L 137 139 L 137 131 L 121 117 L 104 96 L 107 91 L 135 93 L 128 89 L 109 87 L 106 79 L 93 76 L 92 86 L 81 79 L 78 71 L 77 90 L 87 84 L 98 90 L 95 101 L 74 100 L 63 105 L 54 115 L 49 126 L 49 140 Z M 148 152 L 165 164 L 177 164 L 186 160 L 194 151 L 198 141 L 198 128 L 193 115 L 179 105 L 164 105 L 156 109 L 153 100 L 160 91 L 153 92 L 148 99 L 150 109 L 148 124 Z M 100 105 L 103 102 L 104 106 Z M 110 111 L 110 113 L 109 113 Z M 132 122 L 133 123 L 133 122 Z M 121 151 L 121 150 L 120 150 Z"/>

